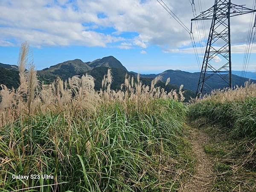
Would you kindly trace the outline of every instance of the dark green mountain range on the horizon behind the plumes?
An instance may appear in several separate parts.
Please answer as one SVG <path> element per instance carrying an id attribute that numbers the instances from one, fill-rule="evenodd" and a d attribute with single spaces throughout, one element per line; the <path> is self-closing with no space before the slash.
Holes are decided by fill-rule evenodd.
<path id="1" fill-rule="evenodd" d="M 113 84 L 111 88 L 114 90 L 120 89 L 120 85 L 125 80 L 126 73 L 130 76 L 137 75 L 135 72 L 128 72 L 122 63 L 113 56 L 96 59 L 91 62 L 83 62 L 81 59 L 64 61 L 43 70 L 38 70 L 37 72 L 38 79 L 40 81 L 44 81 L 45 84 L 49 84 L 57 77 L 65 80 L 75 75 L 81 76 L 88 73 L 96 79 L 95 89 L 99 90 L 101 88 L 103 76 L 107 73 L 109 67 L 112 69 Z M 17 87 L 19 84 L 18 67 L 16 65 L 0 63 L 0 74 L 0 84 L 6 84 L 9 88 Z M 234 71 L 234 74 L 232 75 L 233 85 L 239 85 L 241 77 L 235 74 L 241 74 L 241 72 L 239 73 L 239 71 Z M 253 76 L 254 74 L 252 72 L 248 74 L 250 75 L 251 79 L 256 79 L 256 74 L 255 77 Z M 166 70 L 159 74 L 142 74 L 141 78 L 143 83 L 150 84 L 150 81 L 158 75 L 163 76 L 163 82 L 160 82 L 158 85 L 165 87 L 164 82 L 170 77 L 171 81 L 166 87 L 167 90 L 178 89 L 178 87 L 183 84 L 184 89 L 188 90 L 187 93 L 189 93 L 189 96 L 192 96 L 195 94 L 197 89 L 200 73 L 189 73 L 181 70 Z M 245 81 L 248 80 L 249 79 L 245 79 Z M 256 80 L 251 81 L 256 82 Z M 225 86 L 223 80 L 218 75 L 213 76 L 211 81 L 208 81 L 208 85 L 214 89 L 223 88 Z"/>

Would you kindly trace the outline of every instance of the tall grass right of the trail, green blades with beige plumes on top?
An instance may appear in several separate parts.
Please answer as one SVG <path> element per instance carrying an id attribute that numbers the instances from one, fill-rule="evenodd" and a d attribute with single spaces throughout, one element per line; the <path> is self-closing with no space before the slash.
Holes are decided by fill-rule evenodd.
<path id="1" fill-rule="evenodd" d="M 214 91 L 192 102 L 189 107 L 192 119 L 205 117 L 230 128 L 235 137 L 256 138 L 256 84 L 247 82 L 235 90 Z"/>

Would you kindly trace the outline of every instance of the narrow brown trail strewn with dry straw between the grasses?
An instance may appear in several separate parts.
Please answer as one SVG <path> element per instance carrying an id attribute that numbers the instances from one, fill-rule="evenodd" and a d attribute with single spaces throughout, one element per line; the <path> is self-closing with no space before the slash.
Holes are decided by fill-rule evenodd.
<path id="1" fill-rule="evenodd" d="M 213 162 L 204 152 L 204 144 L 207 143 L 209 137 L 202 131 L 191 128 L 187 139 L 192 143 L 192 150 L 197 159 L 195 166 L 195 175 L 180 187 L 180 192 L 210 192 L 212 189 L 212 181 L 215 176 L 212 171 Z"/>

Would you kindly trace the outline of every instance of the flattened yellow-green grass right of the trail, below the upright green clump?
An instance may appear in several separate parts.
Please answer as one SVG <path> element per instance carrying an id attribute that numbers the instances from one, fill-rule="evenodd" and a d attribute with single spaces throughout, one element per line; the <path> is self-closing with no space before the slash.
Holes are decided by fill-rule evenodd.
<path id="1" fill-rule="evenodd" d="M 208 119 L 197 119 L 192 126 L 200 128 L 210 137 L 205 152 L 214 162 L 212 191 L 255 191 L 256 140 L 233 138 L 229 128 L 210 125 Z"/>

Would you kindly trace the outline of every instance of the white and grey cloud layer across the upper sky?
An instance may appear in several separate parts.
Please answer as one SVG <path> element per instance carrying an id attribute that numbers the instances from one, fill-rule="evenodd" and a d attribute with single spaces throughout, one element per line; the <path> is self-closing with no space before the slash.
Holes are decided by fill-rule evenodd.
<path id="1" fill-rule="evenodd" d="M 161 7 L 156 0 L 1 0 L 0 37 L 1 41 L 14 40 L 17 44 L 28 41 L 34 46 L 101 46 L 119 42 L 120 49 L 138 46 L 145 49 L 151 45 L 163 48 L 165 52 L 193 52 L 189 34 Z M 187 0 L 164 0 L 173 12 L 190 26 L 193 17 Z M 233 0 L 233 3 L 241 3 Z M 202 9 L 213 4 L 204 0 Z M 251 0 L 243 4 L 252 7 Z M 199 13 L 198 1 L 195 1 Z M 12 13 L 12 14 L 10 14 Z M 105 17 L 98 17 L 102 13 Z M 250 15 L 231 19 L 231 40 L 234 52 L 244 52 Z M 209 33 L 208 21 L 205 28 L 198 22 L 200 34 L 193 25 L 195 41 Z M 101 32 L 111 27 L 115 32 Z M 97 30 L 95 30 L 97 29 Z M 135 32 L 126 37 L 125 32 Z M 3 43 L 2 43 L 3 44 Z M 11 44 L 9 44 L 11 46 Z M 8 44 L 6 44 L 8 46 Z M 238 46 L 238 47 L 235 47 Z M 240 47 L 239 47 L 240 46 Z M 253 50 L 255 52 L 255 50 Z"/>

